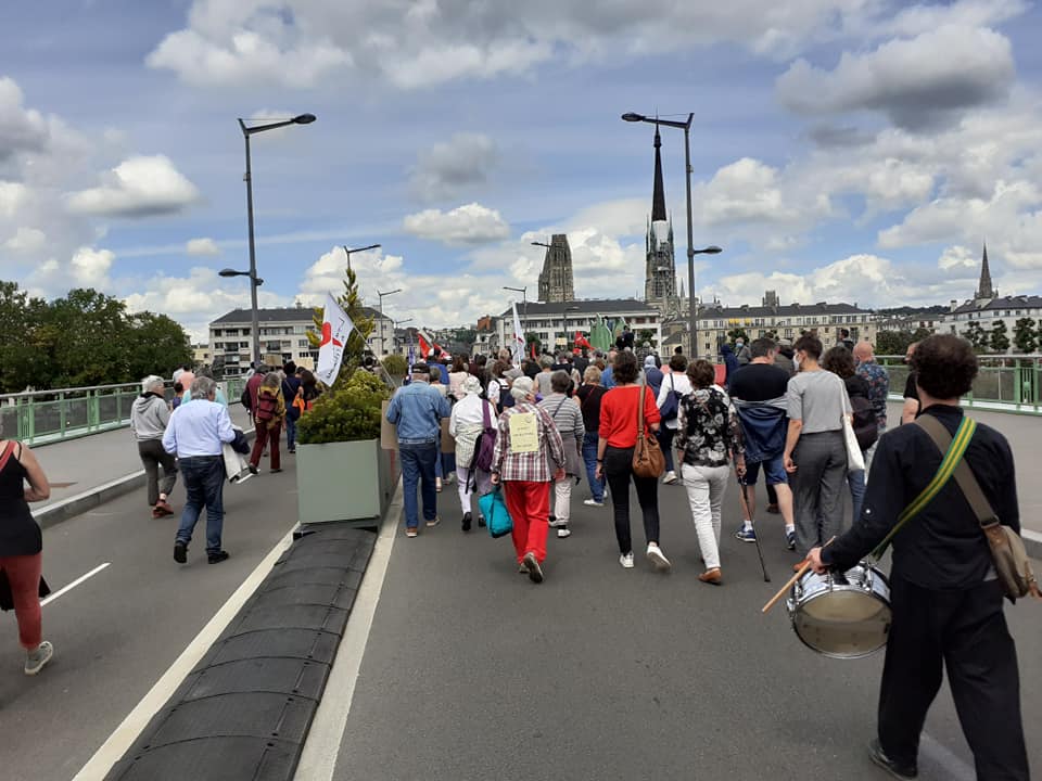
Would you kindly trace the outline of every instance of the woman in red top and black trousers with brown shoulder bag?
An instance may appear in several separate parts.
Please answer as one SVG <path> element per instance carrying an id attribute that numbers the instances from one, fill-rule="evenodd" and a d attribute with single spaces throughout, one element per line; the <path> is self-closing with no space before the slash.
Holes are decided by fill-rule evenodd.
<path id="1" fill-rule="evenodd" d="M 659 548 L 659 481 L 633 473 L 633 450 L 637 445 L 637 425 L 641 389 L 644 417 L 648 428 L 659 430 L 659 407 L 651 389 L 637 383 L 637 358 L 623 350 L 615 357 L 612 377 L 614 387 L 600 401 L 600 435 L 597 440 L 597 478 L 608 478 L 611 503 L 615 513 L 615 537 L 619 539 L 619 563 L 633 567 L 633 542 L 630 538 L 630 479 L 637 486 L 637 501 L 644 513 L 644 534 L 648 540 L 648 561 L 660 572 L 670 571 L 670 560 Z"/>

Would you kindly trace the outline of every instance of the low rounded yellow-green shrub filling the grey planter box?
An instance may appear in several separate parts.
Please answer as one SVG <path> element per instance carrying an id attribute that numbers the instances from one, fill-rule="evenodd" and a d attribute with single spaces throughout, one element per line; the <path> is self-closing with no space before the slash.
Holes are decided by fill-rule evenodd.
<path id="1" fill-rule="evenodd" d="M 380 436 L 381 406 L 390 397 L 387 386 L 374 374 L 356 369 L 336 381 L 332 390 L 315 401 L 296 423 L 301 445 L 358 441 Z"/>

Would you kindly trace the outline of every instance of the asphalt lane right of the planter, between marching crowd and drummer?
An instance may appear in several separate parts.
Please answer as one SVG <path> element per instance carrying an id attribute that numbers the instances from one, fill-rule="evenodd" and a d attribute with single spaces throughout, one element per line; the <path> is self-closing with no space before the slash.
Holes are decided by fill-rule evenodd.
<path id="1" fill-rule="evenodd" d="M 660 489 L 671 575 L 639 554 L 635 569 L 622 569 L 610 508 L 580 504 L 571 538 L 551 535 L 539 586 L 517 573 L 507 539 L 461 534 L 443 496 L 442 526 L 395 539 L 336 779 L 885 777 L 865 754 L 882 654 L 825 658 L 799 643 L 784 606 L 761 615 L 795 554 L 783 548 L 777 516 L 762 516 L 773 576 L 763 581 L 755 548 L 730 536 L 734 485 L 721 587 L 697 580 L 699 551 L 678 486 Z M 644 535 L 635 507 L 633 517 L 636 548 Z M 1032 728 L 1042 724 L 1033 684 L 1042 612 L 1021 603 L 1007 615 L 1029 754 L 1042 771 Z M 974 778 L 946 689 L 926 732 L 920 778 Z"/>

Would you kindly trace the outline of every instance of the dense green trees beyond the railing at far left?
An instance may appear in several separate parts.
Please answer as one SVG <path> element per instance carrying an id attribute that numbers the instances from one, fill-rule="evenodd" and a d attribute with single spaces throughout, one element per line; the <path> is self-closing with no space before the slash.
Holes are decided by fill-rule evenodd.
<path id="1" fill-rule="evenodd" d="M 77 289 L 48 304 L 0 282 L 0 389 L 135 382 L 190 362 L 183 329 L 164 315 L 129 315 L 117 298 Z"/>

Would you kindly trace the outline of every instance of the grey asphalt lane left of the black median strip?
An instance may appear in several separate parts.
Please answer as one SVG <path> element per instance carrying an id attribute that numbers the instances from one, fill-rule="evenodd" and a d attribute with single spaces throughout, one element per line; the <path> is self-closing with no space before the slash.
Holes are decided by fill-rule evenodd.
<path id="1" fill-rule="evenodd" d="M 55 652 L 36 678 L 22 674 L 14 614 L 0 614 L 0 779 L 68 781 L 79 771 L 295 525 L 292 456 L 283 469 L 272 475 L 262 464 L 258 476 L 226 487 L 231 559 L 219 565 L 206 563 L 205 520 L 188 564 L 174 562 L 179 515 L 153 520 L 143 488 L 43 532 L 43 573 L 54 591 L 111 565 L 43 609 Z M 183 496 L 179 484 L 175 510 Z"/>

